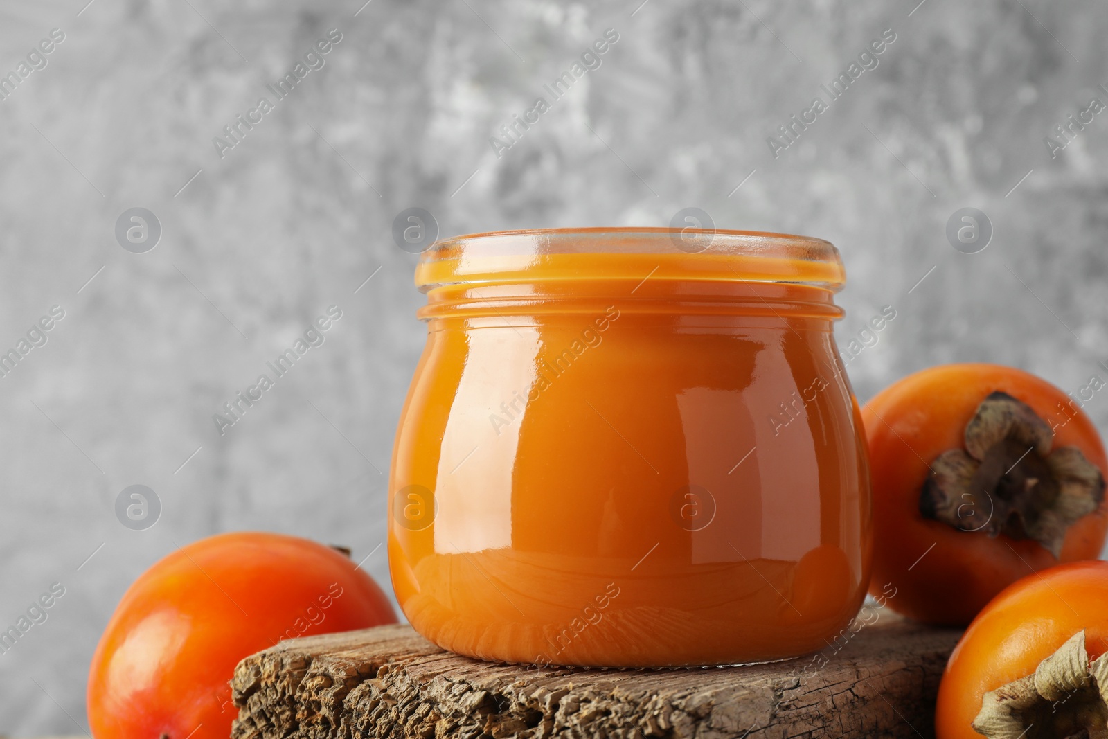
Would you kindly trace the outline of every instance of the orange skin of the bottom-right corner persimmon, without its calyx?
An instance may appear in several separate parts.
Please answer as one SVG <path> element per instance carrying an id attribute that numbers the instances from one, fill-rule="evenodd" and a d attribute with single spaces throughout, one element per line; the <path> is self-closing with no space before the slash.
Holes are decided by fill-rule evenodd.
<path id="1" fill-rule="evenodd" d="M 1108 651 L 1108 562 L 1074 562 L 1027 575 L 974 619 L 938 687 L 935 736 L 981 739 L 971 725 L 983 696 L 1035 668 L 1085 629 L 1090 659 Z"/>

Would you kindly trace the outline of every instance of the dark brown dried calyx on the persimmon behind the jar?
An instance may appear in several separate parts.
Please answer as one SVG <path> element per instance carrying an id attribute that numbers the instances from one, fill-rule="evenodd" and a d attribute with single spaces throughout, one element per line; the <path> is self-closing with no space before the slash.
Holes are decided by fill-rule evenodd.
<path id="1" fill-rule="evenodd" d="M 1056 557 L 1066 530 L 1100 505 L 1105 479 L 1076 447 L 1051 451 L 1054 432 L 1005 392 L 982 401 L 965 449 L 931 464 L 920 512 L 960 531 L 1032 538 Z"/>

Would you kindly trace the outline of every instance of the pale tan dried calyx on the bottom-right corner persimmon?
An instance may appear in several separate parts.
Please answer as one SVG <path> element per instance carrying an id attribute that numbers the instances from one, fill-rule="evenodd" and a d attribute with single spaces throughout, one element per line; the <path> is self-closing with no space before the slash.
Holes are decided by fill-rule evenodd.
<path id="1" fill-rule="evenodd" d="M 1108 655 L 1090 663 L 1078 632 L 1034 675 L 986 692 L 973 729 L 989 739 L 1105 739 Z"/>

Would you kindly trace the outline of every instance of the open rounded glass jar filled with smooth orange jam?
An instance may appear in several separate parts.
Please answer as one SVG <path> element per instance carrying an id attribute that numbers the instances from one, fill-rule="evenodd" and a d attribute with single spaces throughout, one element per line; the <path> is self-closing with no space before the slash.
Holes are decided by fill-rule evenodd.
<path id="1" fill-rule="evenodd" d="M 664 228 L 442 240 L 392 456 L 397 598 L 481 659 L 797 657 L 858 613 L 870 487 L 838 250 Z"/>

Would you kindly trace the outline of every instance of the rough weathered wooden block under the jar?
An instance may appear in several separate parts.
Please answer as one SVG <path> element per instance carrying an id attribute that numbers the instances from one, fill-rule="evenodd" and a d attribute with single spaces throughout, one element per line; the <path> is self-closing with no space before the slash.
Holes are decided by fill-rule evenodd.
<path id="1" fill-rule="evenodd" d="M 927 737 L 957 637 L 886 613 L 818 656 L 772 665 L 529 669 L 382 626 L 244 659 L 232 681 L 233 737 Z"/>

